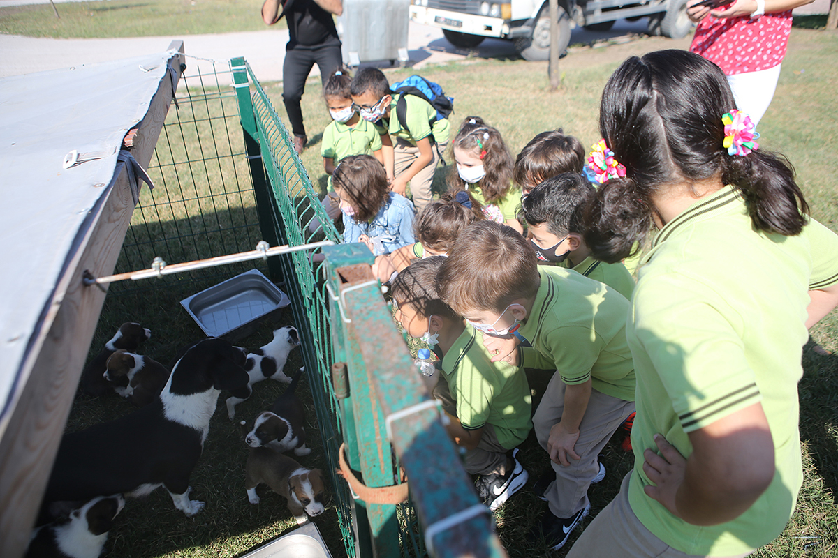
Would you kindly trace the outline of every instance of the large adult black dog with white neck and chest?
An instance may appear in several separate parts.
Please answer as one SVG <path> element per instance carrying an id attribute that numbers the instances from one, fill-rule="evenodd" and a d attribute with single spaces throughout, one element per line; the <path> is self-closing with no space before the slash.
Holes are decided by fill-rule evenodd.
<path id="1" fill-rule="evenodd" d="M 189 475 L 198 463 L 220 390 L 247 384 L 245 350 L 209 338 L 186 351 L 152 403 L 115 421 L 65 434 L 44 503 L 101 494 L 144 496 L 163 485 L 174 506 L 197 514 Z"/>

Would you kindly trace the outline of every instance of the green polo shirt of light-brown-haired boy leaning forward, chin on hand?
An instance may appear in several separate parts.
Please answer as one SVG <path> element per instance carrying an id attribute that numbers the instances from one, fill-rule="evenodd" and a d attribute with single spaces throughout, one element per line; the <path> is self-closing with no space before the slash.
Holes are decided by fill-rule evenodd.
<path id="1" fill-rule="evenodd" d="M 555 369 L 568 385 L 592 387 L 634 401 L 634 365 L 626 342 L 629 301 L 616 290 L 570 269 L 539 266 L 541 285 L 520 334 L 521 366 Z"/>

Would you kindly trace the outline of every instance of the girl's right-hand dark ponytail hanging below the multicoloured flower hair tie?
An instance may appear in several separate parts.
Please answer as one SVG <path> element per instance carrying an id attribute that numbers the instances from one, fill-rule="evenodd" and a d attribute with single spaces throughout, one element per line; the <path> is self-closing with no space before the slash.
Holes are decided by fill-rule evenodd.
<path id="1" fill-rule="evenodd" d="M 751 151 L 747 156 L 727 159 L 722 180 L 742 194 L 755 228 L 785 236 L 803 230 L 809 204 L 794 182 L 794 167 L 785 156 Z"/>

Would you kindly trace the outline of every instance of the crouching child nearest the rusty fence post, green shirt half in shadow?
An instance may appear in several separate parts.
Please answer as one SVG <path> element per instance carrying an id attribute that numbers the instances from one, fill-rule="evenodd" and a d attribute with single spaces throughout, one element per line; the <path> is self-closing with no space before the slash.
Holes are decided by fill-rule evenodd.
<path id="1" fill-rule="evenodd" d="M 478 494 L 494 511 L 528 477 L 517 450 L 508 453 L 530 433 L 530 387 L 518 366 L 492 362 L 482 335 L 439 299 L 437 273 L 444 260 L 422 259 L 396 276 L 396 320 L 407 335 L 436 346 L 442 375 L 433 395 L 442 402 L 449 436 L 466 449 L 466 471 L 480 475 Z"/>

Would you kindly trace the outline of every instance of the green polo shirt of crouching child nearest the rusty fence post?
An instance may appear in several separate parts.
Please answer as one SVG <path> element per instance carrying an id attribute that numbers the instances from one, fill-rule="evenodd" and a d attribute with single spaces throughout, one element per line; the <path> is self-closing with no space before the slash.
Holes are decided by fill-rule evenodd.
<path id="1" fill-rule="evenodd" d="M 457 400 L 457 417 L 466 430 L 491 424 L 504 448 L 512 449 L 530 433 L 532 399 L 518 366 L 492 362 L 483 334 L 471 325 L 442 356 L 442 371 Z"/>

